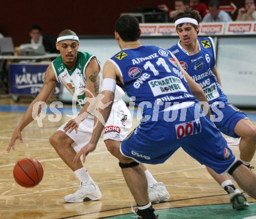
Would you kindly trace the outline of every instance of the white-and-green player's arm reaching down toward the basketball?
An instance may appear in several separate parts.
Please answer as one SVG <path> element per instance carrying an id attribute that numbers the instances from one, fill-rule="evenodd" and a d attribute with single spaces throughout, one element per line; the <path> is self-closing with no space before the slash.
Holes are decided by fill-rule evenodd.
<path id="1" fill-rule="evenodd" d="M 52 66 L 49 65 L 49 67 L 45 71 L 44 84 L 42 86 L 40 93 L 30 103 L 29 108 L 27 108 L 27 111 L 23 115 L 22 120 L 20 121 L 19 125 L 17 125 L 17 127 L 15 128 L 12 134 L 10 143 L 6 148 L 6 151 L 8 153 L 10 152 L 10 149 L 13 149 L 13 151 L 15 150 L 16 140 L 20 140 L 21 143 L 23 142 L 22 130 L 24 129 L 24 127 L 29 125 L 30 122 L 33 121 L 33 115 L 36 116 L 40 114 L 41 108 L 42 108 L 42 105 L 40 104 L 40 102 L 47 103 L 47 101 L 49 101 L 49 98 L 51 98 L 52 93 L 54 93 L 55 87 L 56 87 L 56 78 L 55 78 L 54 70 L 52 69 Z M 36 104 L 38 104 L 38 106 Z M 37 109 L 37 111 L 33 112 L 33 108 Z"/>

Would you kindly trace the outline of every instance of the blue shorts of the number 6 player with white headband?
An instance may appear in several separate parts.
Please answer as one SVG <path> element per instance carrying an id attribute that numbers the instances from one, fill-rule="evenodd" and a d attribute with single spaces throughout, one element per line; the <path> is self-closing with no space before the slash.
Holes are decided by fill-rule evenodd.
<path id="1" fill-rule="evenodd" d="M 234 133 L 234 127 L 236 127 L 237 122 L 241 119 L 248 119 L 244 112 L 227 101 L 211 104 L 211 112 L 212 115 L 215 116 L 214 123 L 216 127 L 218 127 L 223 134 L 240 138 L 240 136 Z"/>

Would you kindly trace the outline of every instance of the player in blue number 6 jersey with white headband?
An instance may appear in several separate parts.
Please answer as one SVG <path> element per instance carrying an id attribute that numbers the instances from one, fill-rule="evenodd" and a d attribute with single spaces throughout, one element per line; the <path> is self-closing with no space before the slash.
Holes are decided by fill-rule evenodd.
<path id="1" fill-rule="evenodd" d="M 207 96 L 211 113 L 215 116 L 215 125 L 227 136 L 240 138 L 240 159 L 250 167 L 256 147 L 256 127 L 239 109 L 229 104 L 221 87 L 221 79 L 215 64 L 215 46 L 211 37 L 197 38 L 201 21 L 197 11 L 187 8 L 175 16 L 175 25 L 180 41 L 170 48 L 191 78 L 199 83 Z M 173 60 L 175 63 L 175 60 Z M 217 114 L 221 111 L 223 118 Z M 234 209 L 243 205 L 239 199 L 243 194 L 236 189 L 229 177 L 218 175 L 210 168 L 209 173 L 227 191 Z M 245 197 L 244 197 L 245 198 Z"/>

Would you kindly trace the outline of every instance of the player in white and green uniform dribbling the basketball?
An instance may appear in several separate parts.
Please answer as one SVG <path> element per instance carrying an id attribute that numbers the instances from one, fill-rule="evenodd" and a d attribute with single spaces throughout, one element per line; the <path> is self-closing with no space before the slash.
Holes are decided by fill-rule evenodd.
<path id="1" fill-rule="evenodd" d="M 83 163 L 73 163 L 76 151 L 79 151 L 91 139 L 94 126 L 94 107 L 92 102 L 86 101 L 97 97 L 99 93 L 99 75 L 101 65 L 99 61 L 90 53 L 79 52 L 79 38 L 71 30 L 62 31 L 57 39 L 56 48 L 61 56 L 56 57 L 49 65 L 44 76 L 44 85 L 41 92 L 32 101 L 24 114 L 19 125 L 13 132 L 10 144 L 7 148 L 15 149 L 15 141 L 22 141 L 22 130 L 33 121 L 33 107 L 40 102 L 47 102 L 55 90 L 56 82 L 62 83 L 64 87 L 76 98 L 81 106 L 81 111 L 77 118 L 71 119 L 63 124 L 50 137 L 50 143 L 55 148 L 58 155 L 73 170 L 80 180 L 79 189 L 74 194 L 66 195 L 66 202 L 84 202 L 86 200 L 98 200 L 101 198 L 101 191 L 96 182 L 83 166 Z M 116 97 L 112 107 L 112 114 L 105 124 L 103 135 L 106 147 L 116 156 L 116 148 L 113 147 L 116 141 L 122 141 L 129 133 L 131 127 L 131 115 L 126 104 L 122 100 L 125 94 L 122 89 L 116 89 Z M 86 99 L 87 98 L 87 99 Z M 94 98 L 95 99 L 95 98 Z M 41 109 L 34 114 L 39 114 Z M 80 117 L 87 114 L 81 121 Z M 118 147 L 117 147 L 118 149 Z M 145 166 L 142 166 L 148 179 L 148 195 L 153 203 L 168 200 L 169 193 L 162 182 L 157 182 Z"/>

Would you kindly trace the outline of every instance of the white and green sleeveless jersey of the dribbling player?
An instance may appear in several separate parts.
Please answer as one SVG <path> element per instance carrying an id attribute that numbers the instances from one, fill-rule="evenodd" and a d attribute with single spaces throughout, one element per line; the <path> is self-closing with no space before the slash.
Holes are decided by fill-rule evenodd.
<path id="1" fill-rule="evenodd" d="M 81 106 L 86 103 L 86 76 L 84 72 L 93 57 L 95 56 L 90 53 L 77 52 L 76 65 L 71 71 L 63 63 L 61 56 L 56 57 L 52 61 L 52 68 L 54 69 L 57 81 L 66 87 Z"/>

